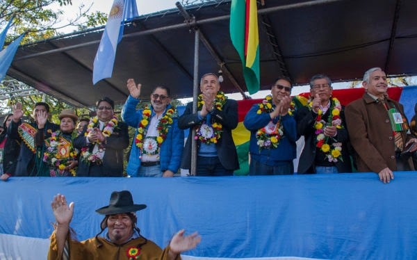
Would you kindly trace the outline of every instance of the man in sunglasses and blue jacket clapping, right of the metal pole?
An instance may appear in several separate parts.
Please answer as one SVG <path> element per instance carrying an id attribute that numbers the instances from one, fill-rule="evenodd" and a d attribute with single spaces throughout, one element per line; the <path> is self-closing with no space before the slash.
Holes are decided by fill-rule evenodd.
<path id="1" fill-rule="evenodd" d="M 243 121 L 250 131 L 250 175 L 294 173 L 297 126 L 291 89 L 289 79 L 277 79 L 271 95 L 252 106 Z"/>

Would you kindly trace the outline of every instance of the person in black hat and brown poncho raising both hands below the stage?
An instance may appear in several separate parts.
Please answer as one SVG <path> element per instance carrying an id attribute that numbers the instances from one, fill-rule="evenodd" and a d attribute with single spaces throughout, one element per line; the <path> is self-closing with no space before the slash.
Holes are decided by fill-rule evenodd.
<path id="1" fill-rule="evenodd" d="M 51 235 L 48 259 L 181 259 L 179 254 L 191 250 L 201 241 L 197 232 L 184 236 L 181 229 L 170 244 L 161 250 L 147 240 L 136 227 L 136 211 L 146 208 L 145 204 L 133 204 L 128 190 L 113 191 L 108 206 L 96 212 L 105 215 L 101 231 L 94 238 L 75 241 L 71 238 L 70 222 L 74 214 L 74 202 L 67 204 L 64 195 L 57 194 L 51 203 L 56 219 L 56 229 Z M 99 235 L 108 229 L 105 236 Z"/>

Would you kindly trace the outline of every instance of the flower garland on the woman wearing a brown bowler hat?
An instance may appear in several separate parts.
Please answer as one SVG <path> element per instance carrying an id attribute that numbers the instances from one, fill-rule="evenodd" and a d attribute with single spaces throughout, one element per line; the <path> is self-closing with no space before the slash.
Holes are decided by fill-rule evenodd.
<path id="1" fill-rule="evenodd" d="M 46 152 L 44 152 L 43 161 L 47 163 L 49 167 L 49 173 L 51 177 L 67 176 L 68 172 L 65 170 L 67 163 L 70 161 L 76 161 L 79 154 L 79 150 L 72 146 L 72 140 L 74 140 L 76 132 L 72 132 L 71 140 L 66 140 L 61 136 L 60 131 L 51 133 L 51 137 L 45 140 L 47 144 Z M 70 170 L 72 176 L 76 175 L 74 168 Z"/>

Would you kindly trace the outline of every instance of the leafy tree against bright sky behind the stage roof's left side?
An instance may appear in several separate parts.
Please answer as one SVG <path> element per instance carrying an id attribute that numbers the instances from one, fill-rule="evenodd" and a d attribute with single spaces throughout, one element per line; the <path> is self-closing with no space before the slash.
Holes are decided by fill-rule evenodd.
<path id="1" fill-rule="evenodd" d="M 76 26 L 77 29 L 88 29 L 106 23 L 107 15 L 101 12 L 90 12 L 91 6 L 81 4 L 75 17 L 65 18 L 65 8 L 72 6 L 72 0 L 2 0 L 0 3 L 0 29 L 3 29 L 8 21 L 13 17 L 13 23 L 6 36 L 6 44 L 14 40 L 21 33 L 26 32 L 21 44 L 44 40 L 60 35 L 60 29 L 66 26 Z M 61 24 L 57 26 L 56 24 Z M 59 122 L 57 115 L 63 108 L 69 108 L 68 104 L 59 101 L 54 97 L 42 95 L 37 90 L 32 89 L 26 84 L 6 76 L 0 84 L 0 114 L 10 113 L 12 106 L 20 102 L 24 106 L 25 115 L 31 113 L 33 104 L 36 101 L 47 101 L 51 104 L 54 115 L 52 120 Z M 87 109 L 77 109 L 78 114 L 88 113 Z M 28 115 L 30 116 L 30 115 Z"/>

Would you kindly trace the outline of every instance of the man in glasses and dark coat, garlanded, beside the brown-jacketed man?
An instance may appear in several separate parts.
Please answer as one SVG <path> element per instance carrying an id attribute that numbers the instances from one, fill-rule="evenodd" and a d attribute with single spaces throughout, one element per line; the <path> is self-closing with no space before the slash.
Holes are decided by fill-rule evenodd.
<path id="1" fill-rule="evenodd" d="M 297 172 L 352 172 L 343 106 L 332 97 L 332 81 L 317 74 L 310 88 L 312 100 L 297 113 L 297 132 L 305 138 Z"/>

